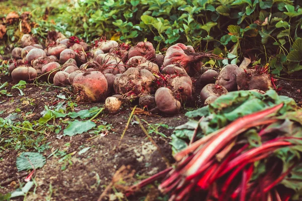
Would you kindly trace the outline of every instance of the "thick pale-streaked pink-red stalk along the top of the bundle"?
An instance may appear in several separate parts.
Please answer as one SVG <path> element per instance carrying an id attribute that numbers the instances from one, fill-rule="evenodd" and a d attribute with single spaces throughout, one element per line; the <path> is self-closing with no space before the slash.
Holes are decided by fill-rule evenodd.
<path id="1" fill-rule="evenodd" d="M 239 135 L 238 131 L 255 126 L 255 124 L 253 123 L 256 123 L 257 125 L 262 125 L 264 124 L 264 122 L 267 123 L 266 121 L 262 120 L 260 122 L 259 120 L 263 119 L 264 117 L 270 114 L 275 113 L 282 107 L 283 103 L 273 108 L 269 108 L 239 118 L 238 120 L 235 120 L 234 122 L 226 126 L 221 132 L 215 135 L 215 137 L 211 139 L 210 142 L 205 145 L 206 149 L 204 151 L 197 153 L 193 157 L 193 159 L 188 163 L 188 165 L 185 167 L 186 175 L 189 176 L 191 174 L 194 174 L 194 172 L 196 172 L 203 164 L 205 164 L 211 157 L 213 157 L 218 150 L 220 150 L 222 147 L 228 144 L 229 141 L 236 137 L 236 134 Z"/>

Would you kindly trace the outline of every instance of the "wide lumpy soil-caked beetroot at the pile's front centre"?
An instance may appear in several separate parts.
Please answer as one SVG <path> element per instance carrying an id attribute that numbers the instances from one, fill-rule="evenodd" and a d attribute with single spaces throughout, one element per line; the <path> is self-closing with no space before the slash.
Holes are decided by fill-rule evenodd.
<path id="1" fill-rule="evenodd" d="M 126 72 L 117 75 L 114 80 L 114 91 L 118 94 L 133 94 L 154 92 L 155 76 L 152 72 L 137 68 L 128 68 Z M 129 93 L 128 93 L 129 92 Z"/>

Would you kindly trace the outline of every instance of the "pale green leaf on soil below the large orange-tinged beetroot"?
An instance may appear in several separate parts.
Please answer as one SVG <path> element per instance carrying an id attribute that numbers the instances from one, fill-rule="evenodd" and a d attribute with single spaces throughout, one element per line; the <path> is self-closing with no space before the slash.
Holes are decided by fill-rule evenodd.
<path id="1" fill-rule="evenodd" d="M 66 136 L 74 136 L 77 134 L 82 134 L 89 131 L 90 129 L 96 127 L 96 124 L 90 120 L 78 121 L 74 120 L 69 122 L 68 126 L 64 129 L 63 134 Z"/>

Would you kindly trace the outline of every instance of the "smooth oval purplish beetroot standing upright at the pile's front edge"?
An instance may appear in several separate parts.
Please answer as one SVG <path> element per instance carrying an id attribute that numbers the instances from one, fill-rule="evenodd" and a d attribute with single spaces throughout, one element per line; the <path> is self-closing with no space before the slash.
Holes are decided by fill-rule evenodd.
<path id="1" fill-rule="evenodd" d="M 155 93 L 155 102 L 157 108 L 164 114 L 174 115 L 179 113 L 181 105 L 175 99 L 169 88 L 161 87 Z"/>

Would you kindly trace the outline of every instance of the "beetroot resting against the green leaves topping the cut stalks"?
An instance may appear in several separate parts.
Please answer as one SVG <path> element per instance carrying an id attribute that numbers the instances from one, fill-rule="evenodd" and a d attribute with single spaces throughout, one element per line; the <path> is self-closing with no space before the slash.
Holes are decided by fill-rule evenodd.
<path id="1" fill-rule="evenodd" d="M 216 84 L 207 84 L 200 91 L 200 100 L 201 103 L 204 103 L 204 101 L 210 96 L 219 97 L 220 95 L 226 93 L 228 93 L 228 90 L 226 90 L 226 88 L 224 88 L 223 86 L 216 85 Z"/>

